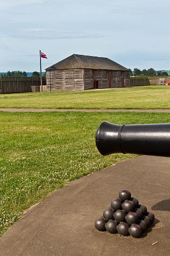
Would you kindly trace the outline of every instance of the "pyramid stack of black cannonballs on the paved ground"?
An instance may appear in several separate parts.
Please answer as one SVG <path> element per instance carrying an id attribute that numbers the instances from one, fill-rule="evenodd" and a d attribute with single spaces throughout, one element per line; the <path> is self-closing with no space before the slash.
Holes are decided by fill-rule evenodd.
<path id="1" fill-rule="evenodd" d="M 155 220 L 155 215 L 147 211 L 145 205 L 131 197 L 131 192 L 123 189 L 119 197 L 111 201 L 111 207 L 94 223 L 99 231 L 140 238 Z"/>

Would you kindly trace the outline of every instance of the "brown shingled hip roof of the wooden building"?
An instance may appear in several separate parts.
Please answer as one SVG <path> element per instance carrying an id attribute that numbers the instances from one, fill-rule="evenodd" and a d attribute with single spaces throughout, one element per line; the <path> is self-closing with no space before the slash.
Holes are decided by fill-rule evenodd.
<path id="1" fill-rule="evenodd" d="M 107 69 L 107 70 L 122 70 L 126 71 L 127 68 L 119 65 L 115 61 L 103 57 L 94 57 L 87 55 L 72 54 L 68 58 L 59 61 L 46 70 L 54 69 Z"/>

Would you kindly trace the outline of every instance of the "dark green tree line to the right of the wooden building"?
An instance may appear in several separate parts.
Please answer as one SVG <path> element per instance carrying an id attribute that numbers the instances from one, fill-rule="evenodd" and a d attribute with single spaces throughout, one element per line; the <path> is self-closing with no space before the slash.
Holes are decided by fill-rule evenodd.
<path id="1" fill-rule="evenodd" d="M 149 69 L 143 69 L 140 70 L 139 68 L 134 68 L 134 71 L 132 72 L 131 70 L 131 75 L 132 76 L 168 76 L 168 73 L 166 71 L 156 71 L 153 68 Z"/>

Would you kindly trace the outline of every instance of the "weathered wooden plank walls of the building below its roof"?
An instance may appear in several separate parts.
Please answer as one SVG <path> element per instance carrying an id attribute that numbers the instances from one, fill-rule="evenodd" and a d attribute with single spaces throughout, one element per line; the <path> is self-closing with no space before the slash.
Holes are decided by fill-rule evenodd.
<path id="1" fill-rule="evenodd" d="M 47 91 L 93 89 L 94 81 L 98 81 L 99 89 L 109 88 L 109 84 L 112 88 L 130 84 L 129 71 L 67 69 L 48 70 L 46 74 Z"/>

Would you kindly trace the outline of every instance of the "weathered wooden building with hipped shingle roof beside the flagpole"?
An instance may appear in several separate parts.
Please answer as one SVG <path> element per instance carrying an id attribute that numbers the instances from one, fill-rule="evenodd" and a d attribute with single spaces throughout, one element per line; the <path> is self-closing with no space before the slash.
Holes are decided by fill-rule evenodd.
<path id="1" fill-rule="evenodd" d="M 108 58 L 72 54 L 46 68 L 46 85 L 47 91 L 126 87 L 130 71 Z"/>

